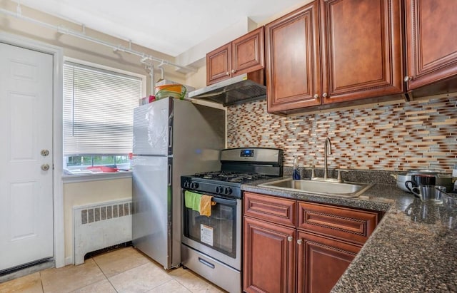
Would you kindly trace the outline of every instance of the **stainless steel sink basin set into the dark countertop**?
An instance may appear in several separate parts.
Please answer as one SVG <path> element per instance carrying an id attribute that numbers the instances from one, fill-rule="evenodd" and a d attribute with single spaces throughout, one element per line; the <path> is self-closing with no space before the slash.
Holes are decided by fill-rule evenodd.
<path id="1" fill-rule="evenodd" d="M 323 195 L 337 195 L 340 197 L 358 197 L 373 184 L 366 183 L 334 183 L 328 181 L 292 180 L 287 178 L 259 186 L 277 188 L 281 190 L 302 191 Z"/>

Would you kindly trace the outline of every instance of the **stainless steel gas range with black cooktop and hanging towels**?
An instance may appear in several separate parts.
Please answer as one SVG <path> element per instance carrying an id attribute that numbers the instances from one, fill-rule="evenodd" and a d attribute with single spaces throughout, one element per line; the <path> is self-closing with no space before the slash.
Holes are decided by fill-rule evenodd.
<path id="1" fill-rule="evenodd" d="M 229 292 L 241 292 L 241 185 L 282 176 L 282 157 L 276 148 L 225 149 L 221 170 L 181 177 L 184 267 Z M 211 198 L 211 215 L 195 207 L 195 199 L 204 197 Z"/>

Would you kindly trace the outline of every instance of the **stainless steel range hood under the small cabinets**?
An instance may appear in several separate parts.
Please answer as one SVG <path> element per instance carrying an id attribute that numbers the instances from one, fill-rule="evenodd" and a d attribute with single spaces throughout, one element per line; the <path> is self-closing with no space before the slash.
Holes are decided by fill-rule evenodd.
<path id="1" fill-rule="evenodd" d="M 260 76 L 260 78 L 258 78 Z M 231 106 L 266 98 L 263 71 L 244 73 L 189 93 L 189 98 L 204 99 Z M 260 81 L 260 83 L 259 83 Z"/>

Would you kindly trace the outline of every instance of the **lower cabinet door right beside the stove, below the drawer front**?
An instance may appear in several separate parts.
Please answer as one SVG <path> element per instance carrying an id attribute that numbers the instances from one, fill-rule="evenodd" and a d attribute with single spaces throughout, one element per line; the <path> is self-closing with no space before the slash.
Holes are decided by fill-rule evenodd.
<path id="1" fill-rule="evenodd" d="M 295 231 L 244 217 L 244 292 L 294 292 Z"/>

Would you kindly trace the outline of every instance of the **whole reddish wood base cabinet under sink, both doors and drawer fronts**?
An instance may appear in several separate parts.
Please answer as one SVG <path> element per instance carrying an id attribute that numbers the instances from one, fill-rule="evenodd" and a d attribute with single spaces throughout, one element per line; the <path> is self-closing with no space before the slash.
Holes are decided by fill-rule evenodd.
<path id="1" fill-rule="evenodd" d="M 381 213 L 245 192 L 243 290 L 329 292 Z"/>

